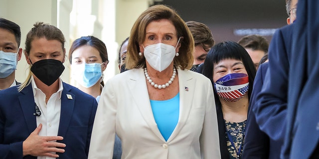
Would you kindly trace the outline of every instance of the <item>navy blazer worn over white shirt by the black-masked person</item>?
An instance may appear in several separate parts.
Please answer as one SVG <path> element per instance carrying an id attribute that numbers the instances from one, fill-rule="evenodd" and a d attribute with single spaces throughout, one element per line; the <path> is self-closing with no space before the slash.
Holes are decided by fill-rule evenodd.
<path id="1" fill-rule="evenodd" d="M 67 98 L 67 94 L 72 99 Z M 58 136 L 65 152 L 59 159 L 87 159 L 93 121 L 97 109 L 94 97 L 63 82 Z M 17 86 L 0 91 L 0 157 L 22 159 L 22 142 L 36 128 L 32 85 L 20 92 Z M 23 159 L 36 159 L 25 156 Z"/>

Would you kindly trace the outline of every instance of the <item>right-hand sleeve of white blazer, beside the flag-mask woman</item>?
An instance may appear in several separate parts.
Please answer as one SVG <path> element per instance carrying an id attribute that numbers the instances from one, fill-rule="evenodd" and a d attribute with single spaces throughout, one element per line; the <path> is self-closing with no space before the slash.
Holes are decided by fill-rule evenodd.
<path id="1" fill-rule="evenodd" d="M 200 135 L 200 151 L 203 159 L 220 159 L 217 114 L 213 87 L 207 79 L 206 112 Z M 205 93 L 204 93 L 205 94 Z"/>

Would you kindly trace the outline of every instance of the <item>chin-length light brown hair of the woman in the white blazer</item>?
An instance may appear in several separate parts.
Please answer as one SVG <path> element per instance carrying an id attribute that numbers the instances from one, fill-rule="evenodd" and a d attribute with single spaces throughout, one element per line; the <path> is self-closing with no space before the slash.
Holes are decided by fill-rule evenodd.
<path id="1" fill-rule="evenodd" d="M 132 27 L 126 56 L 127 69 L 146 67 L 145 57 L 139 56 L 140 44 L 145 40 L 148 24 L 160 19 L 170 20 L 176 29 L 177 38 L 183 37 L 180 39 L 179 56 L 174 58 L 174 66 L 181 70 L 192 67 L 194 40 L 184 20 L 169 6 L 153 5 L 139 16 Z"/>

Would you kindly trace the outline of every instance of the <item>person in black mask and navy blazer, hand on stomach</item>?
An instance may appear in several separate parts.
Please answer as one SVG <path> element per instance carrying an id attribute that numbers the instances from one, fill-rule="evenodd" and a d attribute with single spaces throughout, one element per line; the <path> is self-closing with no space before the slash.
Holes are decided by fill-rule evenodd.
<path id="1" fill-rule="evenodd" d="M 97 102 L 59 78 L 61 30 L 43 22 L 33 26 L 25 40 L 27 79 L 0 91 L 1 159 L 87 159 Z"/>

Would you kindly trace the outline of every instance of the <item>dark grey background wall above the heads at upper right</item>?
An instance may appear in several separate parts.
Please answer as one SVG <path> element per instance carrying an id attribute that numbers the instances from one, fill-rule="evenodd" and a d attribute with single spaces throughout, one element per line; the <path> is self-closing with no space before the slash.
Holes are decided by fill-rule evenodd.
<path id="1" fill-rule="evenodd" d="M 206 24 L 216 42 L 238 41 L 244 35 L 235 29 L 276 29 L 287 25 L 285 0 L 163 0 L 176 9 L 184 21 Z M 256 30 L 255 30 L 256 31 Z M 265 36 L 269 41 L 272 35 Z"/>

